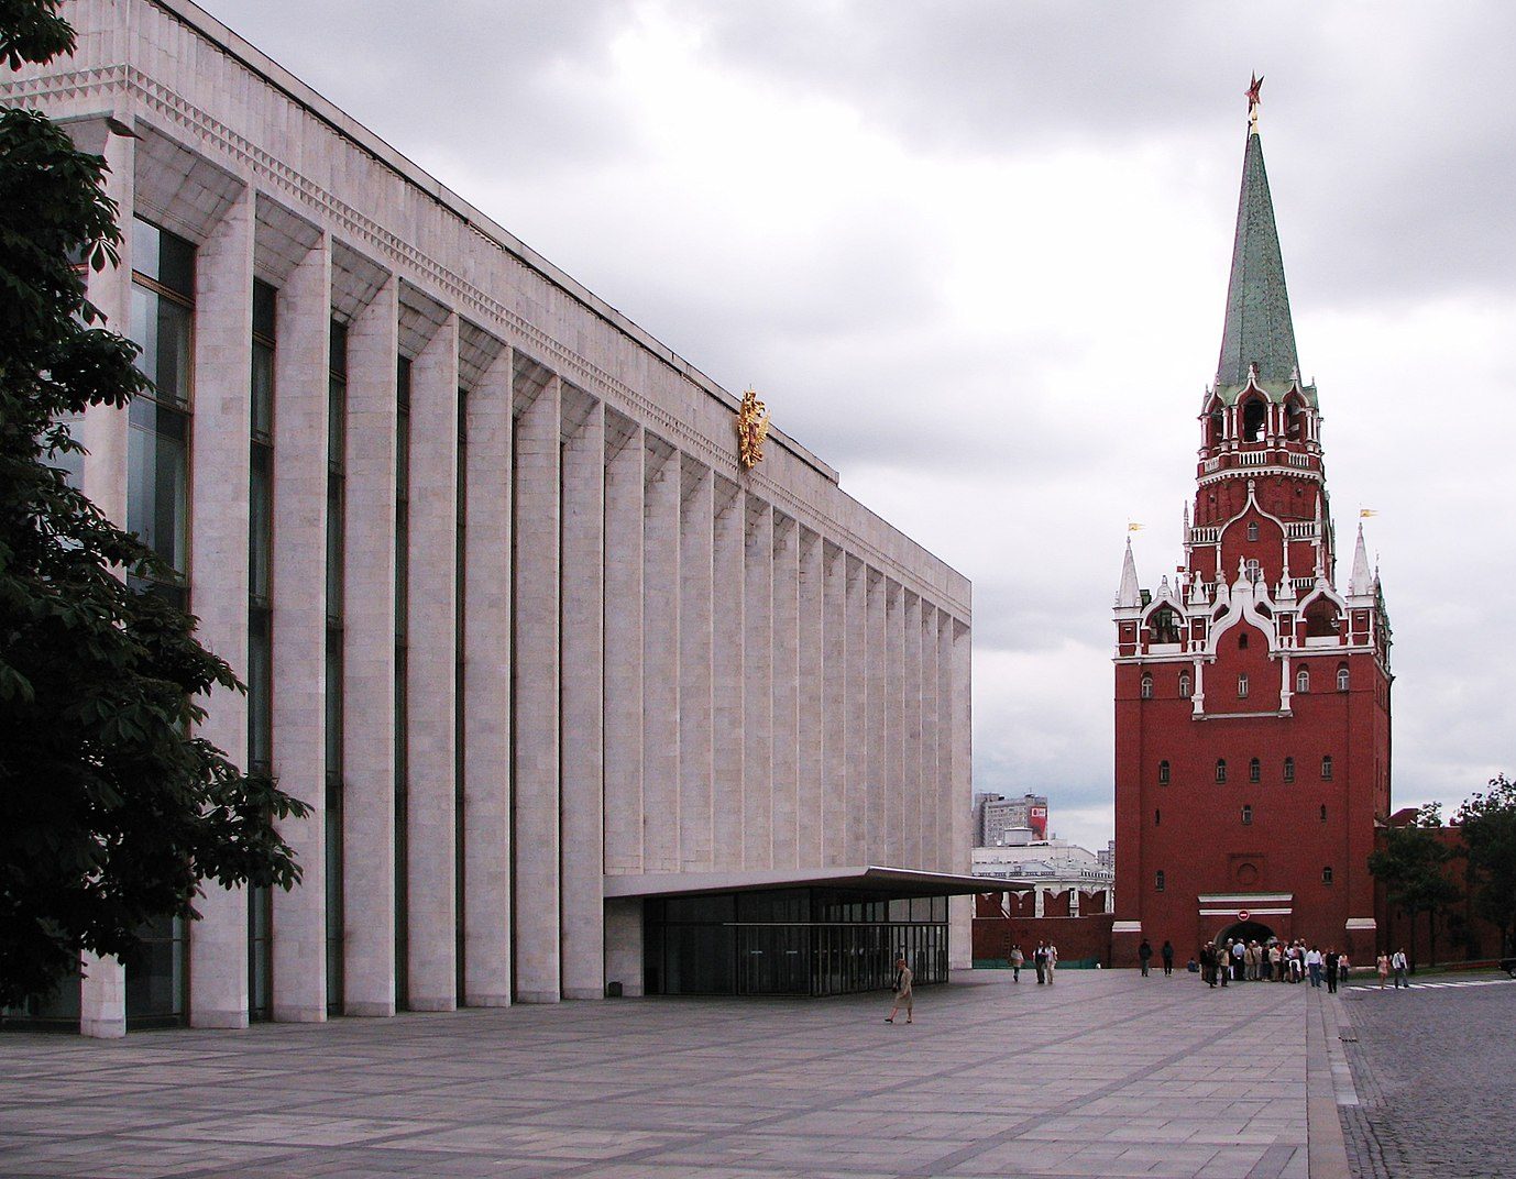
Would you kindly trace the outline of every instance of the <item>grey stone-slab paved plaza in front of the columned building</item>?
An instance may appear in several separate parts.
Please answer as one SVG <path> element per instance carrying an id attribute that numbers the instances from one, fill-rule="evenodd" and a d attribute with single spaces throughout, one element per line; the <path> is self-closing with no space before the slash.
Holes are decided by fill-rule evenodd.
<path id="1" fill-rule="evenodd" d="M 0 1173 L 1343 1179 L 1323 994 L 972 971 L 913 1026 L 876 994 L 8 1034 Z"/>

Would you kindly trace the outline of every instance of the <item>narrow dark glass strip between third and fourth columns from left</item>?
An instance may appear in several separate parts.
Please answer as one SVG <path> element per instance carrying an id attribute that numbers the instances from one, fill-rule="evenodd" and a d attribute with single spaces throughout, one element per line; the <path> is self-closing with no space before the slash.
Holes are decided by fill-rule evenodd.
<path id="1" fill-rule="evenodd" d="M 326 1011 L 343 1011 L 343 558 L 347 326 L 332 320 L 326 380 Z"/>

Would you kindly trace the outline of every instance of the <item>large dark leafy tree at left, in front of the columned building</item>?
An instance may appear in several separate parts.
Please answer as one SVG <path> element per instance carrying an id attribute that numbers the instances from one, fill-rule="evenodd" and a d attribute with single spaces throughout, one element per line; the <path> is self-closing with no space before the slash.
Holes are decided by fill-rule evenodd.
<path id="1" fill-rule="evenodd" d="M 59 0 L 0 0 L 12 70 L 73 48 Z M 309 809 L 194 735 L 244 691 L 196 620 L 139 586 L 174 577 L 55 464 L 65 418 L 149 382 L 80 267 L 117 265 L 105 161 L 42 115 L 0 112 L 0 1003 L 50 991 L 82 950 L 129 955 L 202 882 L 290 888 L 276 823 Z"/>

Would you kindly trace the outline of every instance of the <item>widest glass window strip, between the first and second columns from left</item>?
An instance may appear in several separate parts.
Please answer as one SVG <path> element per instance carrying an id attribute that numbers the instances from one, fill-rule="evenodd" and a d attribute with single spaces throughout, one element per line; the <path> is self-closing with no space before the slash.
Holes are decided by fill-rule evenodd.
<path id="1" fill-rule="evenodd" d="M 164 562 L 133 585 L 188 609 L 194 245 L 141 218 L 132 242 L 130 336 L 153 388 L 127 409 L 126 527 Z M 141 934 L 141 952 L 126 962 L 127 1023 L 180 1023 L 188 996 L 183 918 L 155 918 Z"/>

